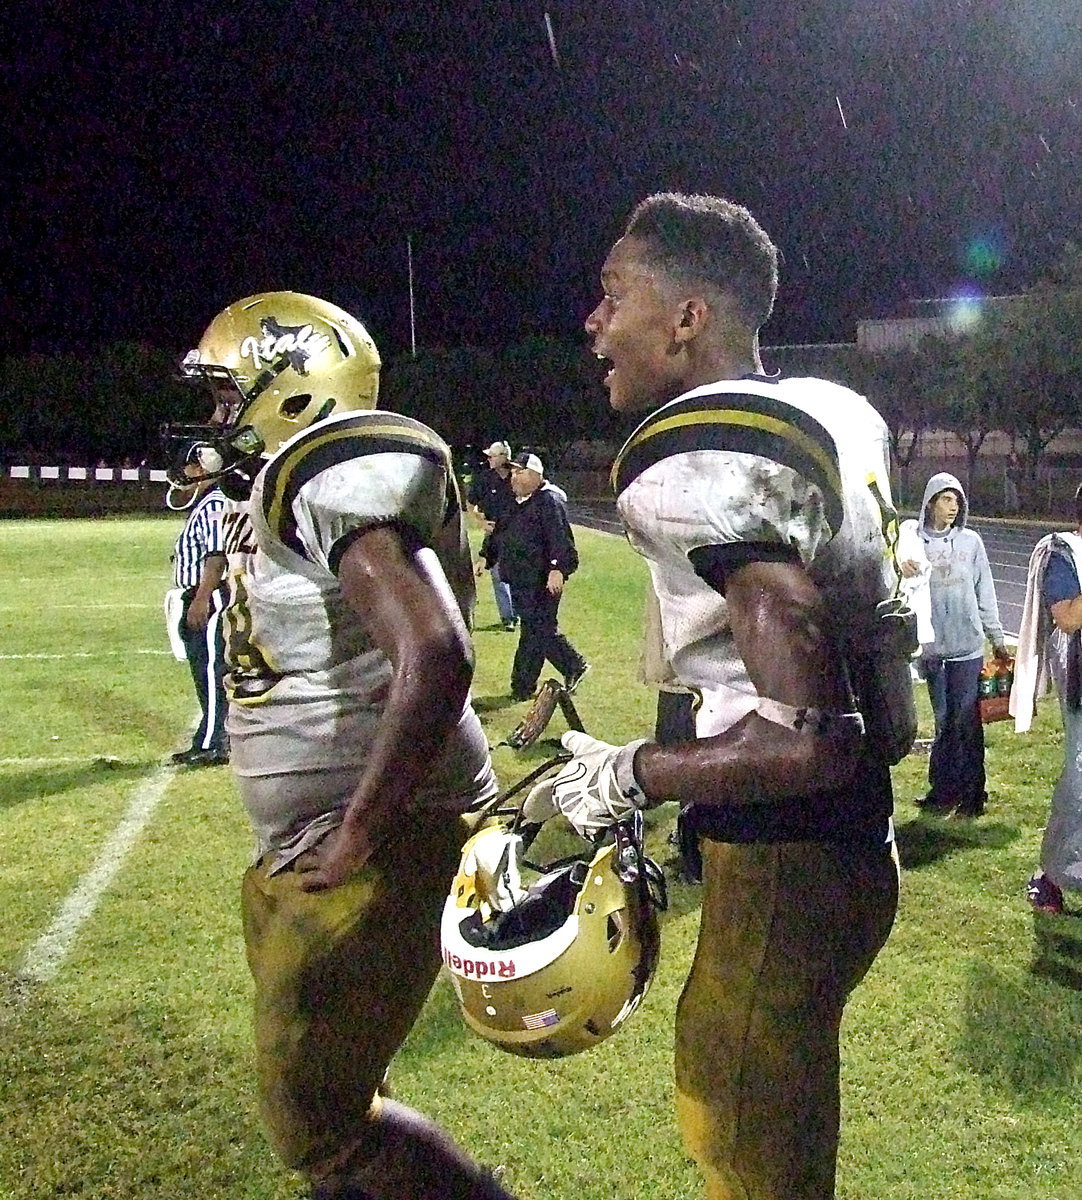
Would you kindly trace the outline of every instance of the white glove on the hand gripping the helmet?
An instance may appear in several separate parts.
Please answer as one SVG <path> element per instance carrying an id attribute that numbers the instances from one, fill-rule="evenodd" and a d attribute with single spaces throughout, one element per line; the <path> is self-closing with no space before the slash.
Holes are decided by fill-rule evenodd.
<path id="1" fill-rule="evenodd" d="M 593 841 L 602 829 L 624 821 L 647 806 L 647 797 L 635 778 L 635 751 L 645 738 L 626 746 L 599 742 L 588 733 L 569 730 L 560 743 L 575 757 L 555 775 L 531 788 L 522 805 L 527 821 L 547 821 L 563 812 L 576 833 Z"/>

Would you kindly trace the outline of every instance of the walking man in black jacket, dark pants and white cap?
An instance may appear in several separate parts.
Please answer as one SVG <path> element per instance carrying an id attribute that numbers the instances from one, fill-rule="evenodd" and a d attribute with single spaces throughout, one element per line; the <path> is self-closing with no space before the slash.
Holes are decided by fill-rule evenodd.
<path id="1" fill-rule="evenodd" d="M 566 497 L 545 481 L 535 454 L 511 463 L 515 505 L 497 524 L 500 578 L 511 587 L 518 614 L 518 648 L 511 667 L 511 696 L 528 700 L 545 660 L 572 691 L 587 672 L 587 660 L 557 626 L 560 596 L 578 566 L 575 535 L 564 508 Z"/>

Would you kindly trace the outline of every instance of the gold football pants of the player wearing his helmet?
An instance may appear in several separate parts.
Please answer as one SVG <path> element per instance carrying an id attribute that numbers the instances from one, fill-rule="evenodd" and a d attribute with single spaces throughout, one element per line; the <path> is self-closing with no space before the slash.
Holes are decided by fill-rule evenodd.
<path id="1" fill-rule="evenodd" d="M 263 1116 L 283 1162 L 366 1157 L 377 1088 L 440 967 L 439 920 L 476 818 L 426 809 L 341 887 L 306 893 L 265 856 L 245 875 Z"/>

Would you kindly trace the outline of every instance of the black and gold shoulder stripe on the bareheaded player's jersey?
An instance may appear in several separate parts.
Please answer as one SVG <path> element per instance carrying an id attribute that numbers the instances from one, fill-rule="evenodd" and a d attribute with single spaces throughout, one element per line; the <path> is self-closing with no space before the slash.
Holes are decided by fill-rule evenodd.
<path id="1" fill-rule="evenodd" d="M 841 526 L 842 482 L 834 438 L 803 409 L 755 392 L 716 391 L 660 408 L 617 455 L 613 492 L 619 497 L 647 468 L 692 450 L 751 454 L 792 468 L 823 493 L 830 528 Z"/>

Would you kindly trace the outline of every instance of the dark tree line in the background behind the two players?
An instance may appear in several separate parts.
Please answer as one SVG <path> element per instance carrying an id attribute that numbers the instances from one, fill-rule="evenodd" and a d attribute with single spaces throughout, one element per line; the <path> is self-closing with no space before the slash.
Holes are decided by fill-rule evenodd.
<path id="1" fill-rule="evenodd" d="M 972 478 L 988 436 L 1004 433 L 1024 488 L 1054 438 L 1082 426 L 1082 252 L 1070 248 L 1047 280 L 988 306 L 966 332 L 880 353 L 779 347 L 764 361 L 866 395 L 886 420 L 901 468 L 920 456 L 931 431 L 945 430 L 964 446 Z M 162 425 L 208 415 L 206 398 L 175 366 L 173 353 L 133 342 L 92 355 L 6 359 L 0 455 L 7 464 L 161 464 Z M 459 450 L 507 437 L 571 467 L 570 448 L 617 442 L 627 431 L 627 419 L 608 408 L 603 371 L 584 341 L 426 348 L 385 364 L 380 403 L 425 421 Z"/>

